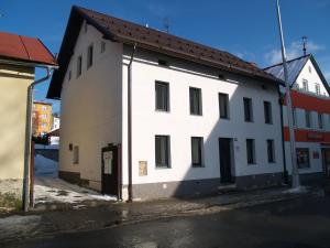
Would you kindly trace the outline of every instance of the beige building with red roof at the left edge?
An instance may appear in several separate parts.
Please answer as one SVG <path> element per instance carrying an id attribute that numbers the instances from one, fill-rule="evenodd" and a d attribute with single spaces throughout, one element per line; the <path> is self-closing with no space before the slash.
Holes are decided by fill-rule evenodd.
<path id="1" fill-rule="evenodd" d="M 28 87 L 54 64 L 40 40 L 0 32 L 0 197 L 22 195 Z"/>

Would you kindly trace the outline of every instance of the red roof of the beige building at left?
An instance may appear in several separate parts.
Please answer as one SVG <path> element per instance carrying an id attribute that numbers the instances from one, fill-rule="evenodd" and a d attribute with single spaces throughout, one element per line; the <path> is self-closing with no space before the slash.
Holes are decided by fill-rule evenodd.
<path id="1" fill-rule="evenodd" d="M 0 32 L 0 57 L 55 65 L 53 54 L 35 37 Z"/>

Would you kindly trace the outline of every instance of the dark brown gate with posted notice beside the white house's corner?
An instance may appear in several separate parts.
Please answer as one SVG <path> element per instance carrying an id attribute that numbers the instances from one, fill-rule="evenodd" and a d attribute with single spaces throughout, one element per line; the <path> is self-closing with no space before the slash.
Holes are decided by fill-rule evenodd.
<path id="1" fill-rule="evenodd" d="M 102 149 L 102 194 L 118 195 L 118 147 L 109 144 Z"/>

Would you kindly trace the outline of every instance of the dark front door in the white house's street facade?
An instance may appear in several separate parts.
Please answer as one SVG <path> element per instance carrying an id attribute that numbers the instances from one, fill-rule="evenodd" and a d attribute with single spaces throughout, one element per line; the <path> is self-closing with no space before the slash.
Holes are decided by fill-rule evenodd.
<path id="1" fill-rule="evenodd" d="M 231 174 L 231 139 L 219 139 L 221 183 L 233 183 Z"/>

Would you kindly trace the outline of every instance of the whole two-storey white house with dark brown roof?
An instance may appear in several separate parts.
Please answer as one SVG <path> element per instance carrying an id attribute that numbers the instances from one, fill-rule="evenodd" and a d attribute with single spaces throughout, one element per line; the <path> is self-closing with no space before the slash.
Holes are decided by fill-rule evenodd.
<path id="1" fill-rule="evenodd" d="M 280 80 L 254 65 L 78 7 L 58 63 L 62 177 L 122 198 L 282 183 Z"/>

